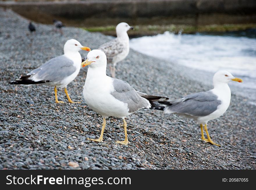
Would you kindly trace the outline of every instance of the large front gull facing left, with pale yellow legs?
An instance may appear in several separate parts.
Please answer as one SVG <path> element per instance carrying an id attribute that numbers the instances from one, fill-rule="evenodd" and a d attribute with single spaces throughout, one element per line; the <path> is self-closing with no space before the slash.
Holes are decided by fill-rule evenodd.
<path id="1" fill-rule="evenodd" d="M 127 82 L 106 75 L 107 57 L 101 50 L 92 50 L 81 67 L 89 65 L 86 81 L 83 87 L 83 97 L 87 105 L 103 117 L 102 130 L 99 139 L 102 142 L 106 126 L 106 117 L 114 116 L 123 119 L 125 140 L 116 143 L 127 145 L 127 123 L 125 117 L 143 108 L 160 105 L 155 101 L 167 100 L 161 96 L 150 96 L 136 91 Z"/>

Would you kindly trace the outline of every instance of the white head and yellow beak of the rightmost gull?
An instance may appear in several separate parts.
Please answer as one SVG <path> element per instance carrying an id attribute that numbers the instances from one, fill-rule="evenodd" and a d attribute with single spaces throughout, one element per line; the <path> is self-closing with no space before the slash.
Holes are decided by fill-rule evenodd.
<path id="1" fill-rule="evenodd" d="M 235 78 L 230 72 L 228 71 L 217 71 L 213 76 L 213 82 L 216 83 L 229 83 L 230 81 L 237 81 L 242 83 L 243 80 L 241 78 Z"/>

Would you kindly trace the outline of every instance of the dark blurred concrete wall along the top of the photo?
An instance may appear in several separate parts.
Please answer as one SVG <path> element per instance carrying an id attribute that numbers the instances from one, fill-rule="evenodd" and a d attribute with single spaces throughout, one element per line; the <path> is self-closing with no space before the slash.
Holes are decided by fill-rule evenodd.
<path id="1" fill-rule="evenodd" d="M 167 17 L 173 24 L 237 24 L 256 22 L 256 0 L 84 0 L 56 2 L 3 1 L 0 6 L 21 15 L 52 15 L 68 19 Z M 29 13 L 29 14 L 28 14 Z M 191 22 L 191 21 L 188 21 Z M 221 23 L 219 23 L 221 22 Z"/>

